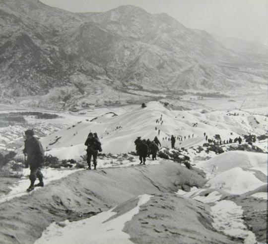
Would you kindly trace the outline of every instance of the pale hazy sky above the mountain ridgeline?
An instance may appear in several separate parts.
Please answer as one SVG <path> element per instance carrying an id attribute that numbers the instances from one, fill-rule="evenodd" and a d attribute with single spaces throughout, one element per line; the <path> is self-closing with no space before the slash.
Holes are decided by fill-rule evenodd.
<path id="1" fill-rule="evenodd" d="M 103 12 L 132 4 L 165 12 L 190 28 L 268 43 L 268 0 L 41 0 L 72 12 Z"/>

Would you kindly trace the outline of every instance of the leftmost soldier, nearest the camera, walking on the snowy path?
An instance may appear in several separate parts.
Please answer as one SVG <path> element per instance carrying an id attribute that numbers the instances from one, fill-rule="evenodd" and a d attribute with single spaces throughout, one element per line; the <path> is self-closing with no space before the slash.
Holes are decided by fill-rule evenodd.
<path id="1" fill-rule="evenodd" d="M 31 184 L 27 191 L 32 191 L 35 186 L 44 186 L 43 174 L 41 172 L 42 164 L 44 163 L 44 149 L 41 142 L 34 137 L 33 130 L 24 132 L 26 140 L 24 142 L 23 153 L 27 154 L 26 165 L 30 165 L 30 181 Z M 34 184 L 36 178 L 39 179 L 38 184 Z"/>

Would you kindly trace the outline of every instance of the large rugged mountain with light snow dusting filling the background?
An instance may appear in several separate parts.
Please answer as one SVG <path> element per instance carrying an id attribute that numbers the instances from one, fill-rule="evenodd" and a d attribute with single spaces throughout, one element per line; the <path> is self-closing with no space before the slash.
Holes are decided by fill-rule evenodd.
<path id="1" fill-rule="evenodd" d="M 0 97 L 8 102 L 65 108 L 144 98 L 133 90 L 257 92 L 268 79 L 256 62 L 165 13 L 132 5 L 72 13 L 39 0 L 1 0 L 0 12 Z"/>

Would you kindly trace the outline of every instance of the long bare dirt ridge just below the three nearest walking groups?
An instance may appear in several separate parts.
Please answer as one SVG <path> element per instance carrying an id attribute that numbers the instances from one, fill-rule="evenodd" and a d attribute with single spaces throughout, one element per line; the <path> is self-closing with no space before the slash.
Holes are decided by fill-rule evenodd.
<path id="1" fill-rule="evenodd" d="M 76 221 L 141 194 L 175 192 L 184 179 L 205 180 L 179 163 L 82 170 L 0 204 L 0 244 L 33 243 L 52 223 Z"/>

